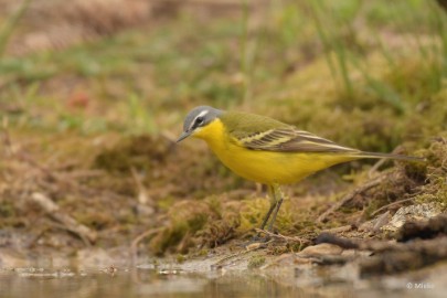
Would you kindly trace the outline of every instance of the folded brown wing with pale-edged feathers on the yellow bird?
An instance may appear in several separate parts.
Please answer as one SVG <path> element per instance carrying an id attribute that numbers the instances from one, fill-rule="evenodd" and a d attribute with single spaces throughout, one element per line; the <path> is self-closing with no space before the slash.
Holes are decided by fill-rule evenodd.
<path id="1" fill-rule="evenodd" d="M 308 131 L 297 129 L 270 129 L 242 138 L 238 141 L 244 147 L 253 150 L 334 153 L 359 152 L 359 150 L 342 147 Z"/>

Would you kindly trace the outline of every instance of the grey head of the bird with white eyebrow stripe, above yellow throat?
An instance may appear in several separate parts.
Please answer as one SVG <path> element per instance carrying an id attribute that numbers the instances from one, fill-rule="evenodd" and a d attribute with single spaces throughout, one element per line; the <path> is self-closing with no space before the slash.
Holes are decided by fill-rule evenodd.
<path id="1" fill-rule="evenodd" d="M 189 136 L 194 136 L 209 124 L 214 121 L 222 113 L 222 110 L 209 106 L 193 108 L 184 119 L 183 132 L 177 142 L 188 138 Z"/>

